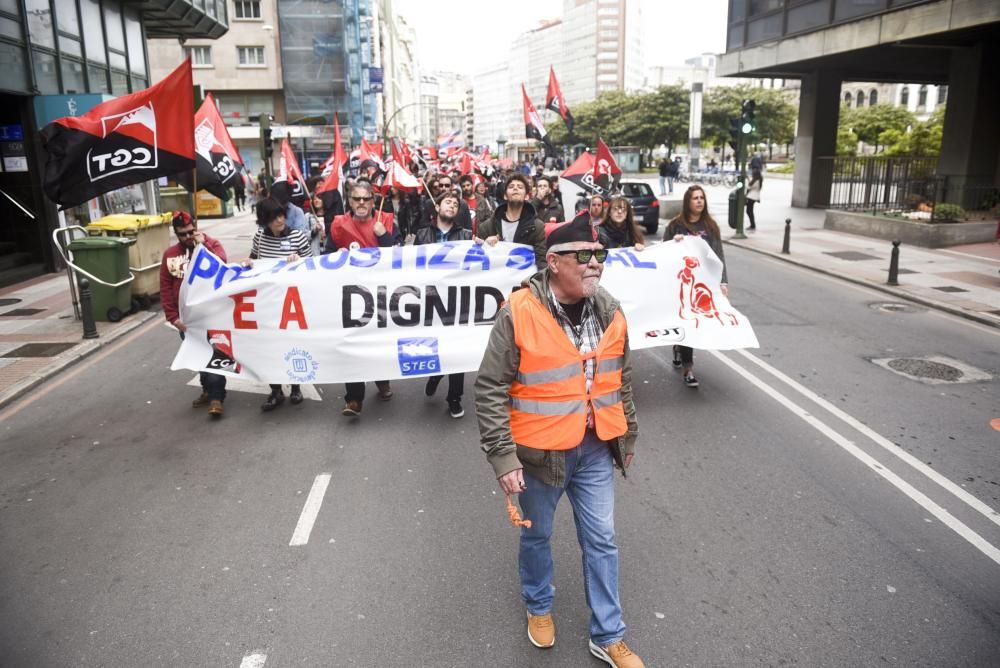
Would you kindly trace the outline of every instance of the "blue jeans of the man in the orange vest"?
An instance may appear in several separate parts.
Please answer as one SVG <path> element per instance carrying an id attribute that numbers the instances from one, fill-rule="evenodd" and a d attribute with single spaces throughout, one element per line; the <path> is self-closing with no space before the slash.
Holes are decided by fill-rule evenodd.
<path id="1" fill-rule="evenodd" d="M 618 600 L 618 546 L 615 545 L 614 465 L 607 444 L 588 431 L 566 451 L 564 487 L 524 476 L 521 511 L 530 529 L 521 529 L 518 555 L 521 598 L 532 615 L 552 610 L 552 518 L 565 492 L 573 508 L 576 537 L 583 552 L 583 586 L 590 606 L 590 638 L 602 647 L 625 637 Z"/>

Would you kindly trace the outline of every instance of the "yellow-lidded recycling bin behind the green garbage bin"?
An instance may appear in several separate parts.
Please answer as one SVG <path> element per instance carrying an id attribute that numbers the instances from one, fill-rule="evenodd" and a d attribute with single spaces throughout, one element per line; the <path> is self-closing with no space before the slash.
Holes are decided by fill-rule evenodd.
<path id="1" fill-rule="evenodd" d="M 128 264 L 135 275 L 132 296 L 143 308 L 149 305 L 150 298 L 160 294 L 160 260 L 170 246 L 170 217 L 169 213 L 153 216 L 117 213 L 87 226 L 91 236 L 135 239 L 128 248 Z"/>

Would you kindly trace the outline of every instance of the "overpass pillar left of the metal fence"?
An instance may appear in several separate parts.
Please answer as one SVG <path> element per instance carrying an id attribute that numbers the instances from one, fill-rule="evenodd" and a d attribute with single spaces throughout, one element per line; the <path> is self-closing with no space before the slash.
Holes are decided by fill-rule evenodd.
<path id="1" fill-rule="evenodd" d="M 840 74 L 830 70 L 816 70 L 802 78 L 792 206 L 825 206 L 830 203 L 833 165 L 817 163 L 816 158 L 832 156 L 837 152 L 840 82 Z"/>

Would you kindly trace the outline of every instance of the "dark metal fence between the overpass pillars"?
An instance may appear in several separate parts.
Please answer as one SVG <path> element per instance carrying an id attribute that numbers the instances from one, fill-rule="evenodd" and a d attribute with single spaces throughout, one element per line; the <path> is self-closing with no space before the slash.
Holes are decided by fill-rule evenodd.
<path id="1" fill-rule="evenodd" d="M 988 218 L 1000 204 L 1000 191 L 991 182 L 941 176 L 937 158 L 824 157 L 816 168 L 830 177 L 831 209 L 926 214 L 931 221 L 954 220 L 956 215 Z M 939 204 L 954 205 L 941 207 Z M 961 213 L 957 214 L 961 208 Z"/>

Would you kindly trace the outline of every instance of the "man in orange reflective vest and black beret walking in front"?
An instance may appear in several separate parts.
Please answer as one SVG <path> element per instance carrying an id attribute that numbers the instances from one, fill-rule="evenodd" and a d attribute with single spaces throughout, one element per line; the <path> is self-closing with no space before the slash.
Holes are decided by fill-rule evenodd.
<path id="1" fill-rule="evenodd" d="M 565 494 L 583 551 L 590 652 L 611 666 L 641 668 L 624 641 L 614 531 L 614 467 L 624 474 L 631 464 L 638 425 L 625 315 L 599 285 L 606 258 L 586 212 L 549 233 L 545 269 L 494 322 L 476 414 L 500 487 L 520 495 L 531 521 L 518 555 L 529 641 L 555 644 L 550 539 Z"/>

